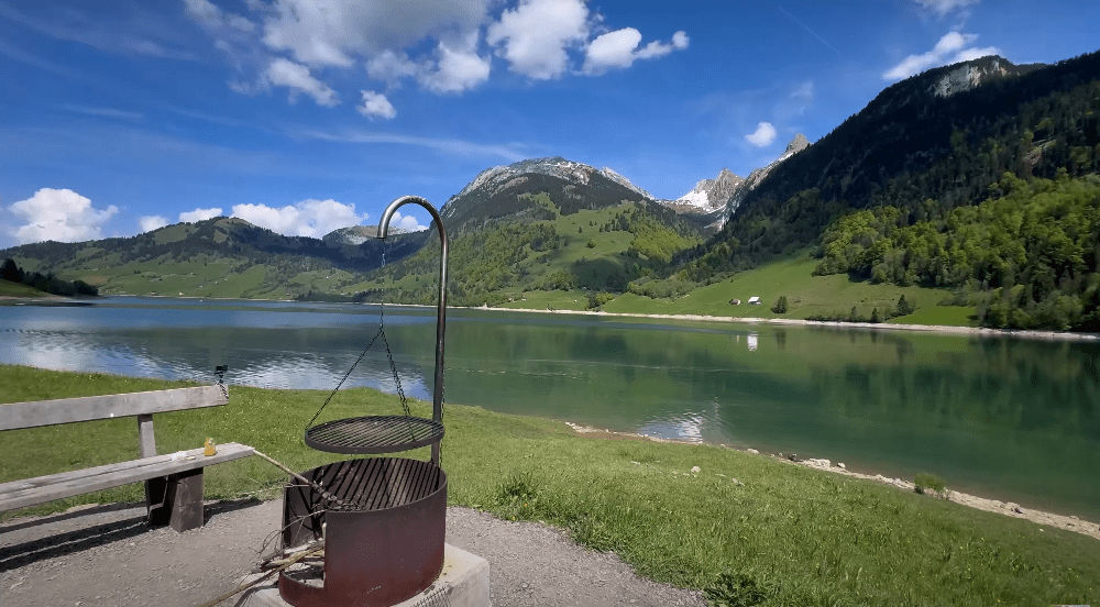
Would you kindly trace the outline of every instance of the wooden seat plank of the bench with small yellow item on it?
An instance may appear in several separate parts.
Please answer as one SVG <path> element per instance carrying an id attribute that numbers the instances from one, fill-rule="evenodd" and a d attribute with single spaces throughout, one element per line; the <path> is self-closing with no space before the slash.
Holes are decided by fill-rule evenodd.
<path id="1" fill-rule="evenodd" d="M 217 455 L 206 456 L 202 454 L 202 448 L 199 448 L 184 452 L 184 459 L 175 461 L 172 460 L 172 455 L 157 455 L 144 460 L 13 481 L 0 485 L 0 512 L 220 464 L 246 457 L 254 452 L 255 450 L 249 445 L 226 443 L 218 445 Z M 187 459 L 191 456 L 195 459 Z"/>

